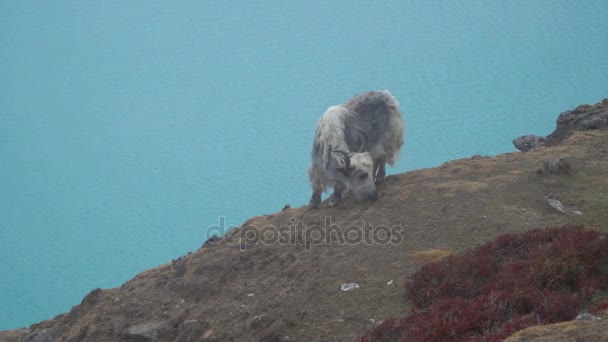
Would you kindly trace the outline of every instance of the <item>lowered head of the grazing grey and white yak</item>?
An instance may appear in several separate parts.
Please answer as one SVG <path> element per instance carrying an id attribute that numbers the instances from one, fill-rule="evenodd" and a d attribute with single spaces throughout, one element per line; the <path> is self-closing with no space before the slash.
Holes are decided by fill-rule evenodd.
<path id="1" fill-rule="evenodd" d="M 374 162 L 369 153 L 333 151 L 336 155 L 334 178 L 341 182 L 358 200 L 378 198 L 374 182 Z"/>

